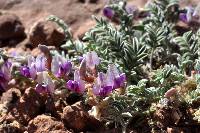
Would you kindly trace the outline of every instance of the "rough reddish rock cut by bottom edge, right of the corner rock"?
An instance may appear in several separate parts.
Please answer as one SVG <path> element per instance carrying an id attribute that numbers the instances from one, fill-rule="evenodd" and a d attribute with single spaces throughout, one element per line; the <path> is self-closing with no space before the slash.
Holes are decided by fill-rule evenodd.
<path id="1" fill-rule="evenodd" d="M 39 115 L 28 124 L 27 128 L 29 133 L 43 133 L 43 132 L 65 132 L 70 133 L 65 130 L 62 122 L 56 121 L 55 118 L 46 115 Z"/>

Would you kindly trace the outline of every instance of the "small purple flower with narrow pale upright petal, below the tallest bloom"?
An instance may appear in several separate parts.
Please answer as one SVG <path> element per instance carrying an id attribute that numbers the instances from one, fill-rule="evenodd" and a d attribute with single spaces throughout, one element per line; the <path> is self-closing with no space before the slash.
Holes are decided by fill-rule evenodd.
<path id="1" fill-rule="evenodd" d="M 83 93 L 85 91 L 85 84 L 84 81 L 81 80 L 78 70 L 74 72 L 74 80 L 69 80 L 66 87 L 76 93 Z"/>

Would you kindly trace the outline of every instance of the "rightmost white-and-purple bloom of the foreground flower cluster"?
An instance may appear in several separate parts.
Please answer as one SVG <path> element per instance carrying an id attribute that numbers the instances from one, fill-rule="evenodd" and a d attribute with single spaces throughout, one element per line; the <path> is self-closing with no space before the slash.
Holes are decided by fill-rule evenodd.
<path id="1" fill-rule="evenodd" d="M 107 76 L 112 83 L 113 89 L 124 87 L 126 81 L 125 73 L 119 73 L 117 67 L 113 64 L 108 66 Z"/>

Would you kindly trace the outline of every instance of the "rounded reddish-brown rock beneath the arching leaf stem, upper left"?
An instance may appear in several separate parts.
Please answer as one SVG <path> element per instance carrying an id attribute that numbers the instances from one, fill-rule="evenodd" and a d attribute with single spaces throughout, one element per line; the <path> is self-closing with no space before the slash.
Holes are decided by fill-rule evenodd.
<path id="1" fill-rule="evenodd" d="M 30 42 L 35 47 L 39 44 L 60 46 L 64 38 L 64 33 L 58 30 L 56 24 L 44 20 L 36 22 L 29 32 Z"/>

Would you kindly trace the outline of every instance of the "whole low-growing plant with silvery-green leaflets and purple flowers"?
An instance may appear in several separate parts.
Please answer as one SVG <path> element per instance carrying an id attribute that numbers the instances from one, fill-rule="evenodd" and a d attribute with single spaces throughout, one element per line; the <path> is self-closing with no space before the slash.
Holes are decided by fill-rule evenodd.
<path id="1" fill-rule="evenodd" d="M 96 25 L 83 40 L 74 40 L 63 20 L 48 18 L 65 34 L 61 51 L 39 45 L 42 54 L 27 56 L 19 65 L 13 63 L 17 57 L 1 52 L 0 90 L 6 91 L 15 78 L 51 98 L 56 90 L 77 93 L 91 107 L 90 115 L 123 132 L 144 120 L 149 121 L 145 126 L 160 128 L 153 115 L 157 105 L 168 106 L 166 101 L 191 108 L 200 95 L 199 9 L 191 13 L 177 0 L 155 0 L 145 9 L 130 8 L 122 0 L 108 3 L 105 17 L 93 16 Z M 183 35 L 176 30 L 179 21 L 190 26 Z M 183 85 L 188 80 L 197 87 Z M 194 113 L 198 121 L 199 107 Z"/>

